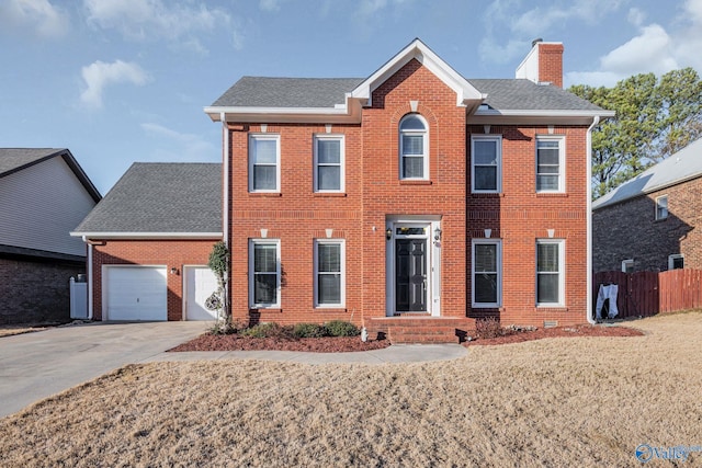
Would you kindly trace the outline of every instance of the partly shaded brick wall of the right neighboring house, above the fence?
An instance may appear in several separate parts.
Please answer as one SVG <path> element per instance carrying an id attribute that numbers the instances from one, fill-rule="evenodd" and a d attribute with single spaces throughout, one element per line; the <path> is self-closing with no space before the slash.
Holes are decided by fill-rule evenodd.
<path id="1" fill-rule="evenodd" d="M 656 220 L 656 197 L 668 195 L 668 218 Z M 668 255 L 682 253 L 687 269 L 702 269 L 702 178 L 592 213 L 592 270 L 666 271 Z"/>

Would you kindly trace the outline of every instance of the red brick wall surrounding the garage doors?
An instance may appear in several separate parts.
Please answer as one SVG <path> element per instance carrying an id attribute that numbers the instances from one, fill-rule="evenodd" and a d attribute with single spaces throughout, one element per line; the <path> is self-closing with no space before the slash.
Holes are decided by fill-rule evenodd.
<path id="1" fill-rule="evenodd" d="M 93 247 L 93 319 L 102 320 L 103 265 L 165 265 L 168 320 L 183 320 L 183 265 L 206 265 L 215 240 L 107 240 Z M 178 274 L 170 274 L 177 267 Z"/>

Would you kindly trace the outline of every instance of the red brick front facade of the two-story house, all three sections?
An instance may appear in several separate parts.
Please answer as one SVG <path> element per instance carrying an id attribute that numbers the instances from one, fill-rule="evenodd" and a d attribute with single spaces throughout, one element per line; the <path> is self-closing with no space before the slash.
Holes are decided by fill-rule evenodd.
<path id="1" fill-rule="evenodd" d="M 562 48 L 561 48 L 562 52 Z M 230 164 L 231 310 L 235 319 L 279 323 L 324 322 L 331 319 L 361 324 L 384 318 L 388 304 L 388 240 L 393 219 L 439 222 L 440 317 L 468 323 L 498 317 L 503 324 L 582 323 L 587 309 L 587 126 L 498 126 L 502 137 L 499 194 L 471 193 L 471 137 L 486 126 L 467 121 L 456 93 L 428 68 L 410 60 L 381 84 L 361 124 L 228 124 Z M 399 122 L 416 112 L 429 127 L 429 178 L 404 181 L 399 174 Z M 280 193 L 249 193 L 249 135 L 280 136 Z M 313 138 L 346 136 L 346 192 L 313 190 Z M 536 135 L 564 135 L 565 193 L 535 189 Z M 434 226 L 434 225 L 432 225 Z M 432 228 L 433 229 L 433 228 Z M 499 309 L 472 308 L 472 239 L 491 238 L 502 244 L 502 294 Z M 346 241 L 346 303 L 341 309 L 314 307 L 313 246 L 315 239 Z M 551 235 L 551 236 L 550 236 Z M 249 242 L 280 240 L 281 306 L 250 309 Z M 536 307 L 536 240 L 565 243 L 563 307 Z M 431 243 L 431 238 L 430 238 Z M 434 243 L 435 244 L 435 243 Z M 437 315 L 437 313 L 434 313 Z"/>

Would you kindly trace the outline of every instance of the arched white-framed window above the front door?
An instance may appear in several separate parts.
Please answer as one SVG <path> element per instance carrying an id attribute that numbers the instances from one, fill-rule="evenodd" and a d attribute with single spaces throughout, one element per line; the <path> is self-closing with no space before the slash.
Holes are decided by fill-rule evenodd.
<path id="1" fill-rule="evenodd" d="M 429 129 L 418 114 L 406 115 L 399 123 L 399 178 L 429 179 Z"/>

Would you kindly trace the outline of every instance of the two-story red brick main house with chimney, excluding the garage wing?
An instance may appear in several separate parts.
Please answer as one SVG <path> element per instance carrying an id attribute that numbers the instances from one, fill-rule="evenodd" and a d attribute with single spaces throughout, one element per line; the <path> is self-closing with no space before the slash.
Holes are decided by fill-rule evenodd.
<path id="1" fill-rule="evenodd" d="M 237 81 L 205 107 L 234 318 L 586 322 L 590 130 L 612 113 L 562 89 L 562 54 L 467 80 L 415 39 L 365 79 Z"/>

